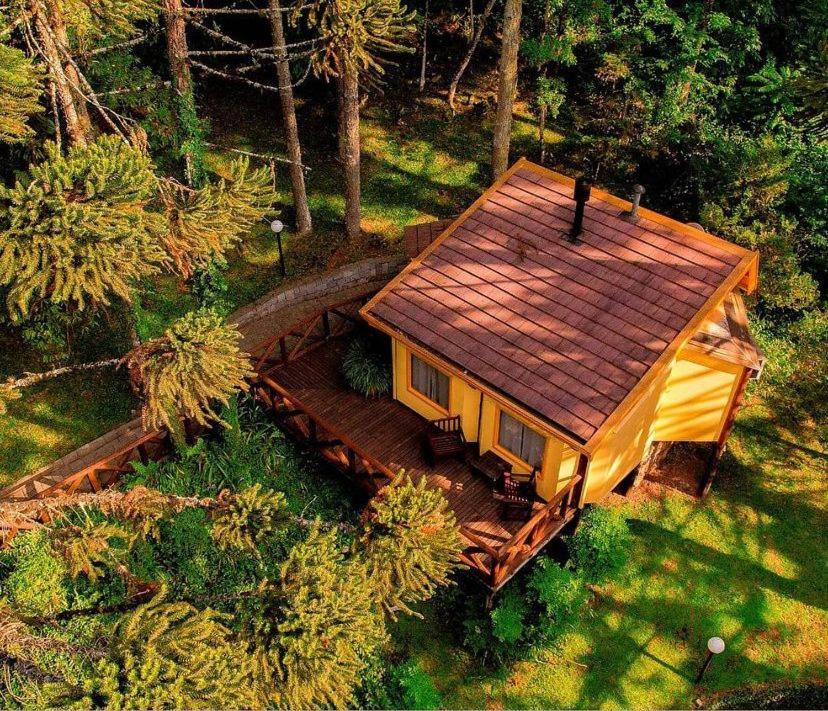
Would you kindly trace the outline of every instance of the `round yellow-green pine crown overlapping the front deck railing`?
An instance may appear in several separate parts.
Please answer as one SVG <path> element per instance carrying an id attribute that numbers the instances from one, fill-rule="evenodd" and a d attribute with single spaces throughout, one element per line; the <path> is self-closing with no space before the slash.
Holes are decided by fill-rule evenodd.
<path id="1" fill-rule="evenodd" d="M 400 474 L 370 504 L 363 536 L 369 576 L 383 604 L 410 612 L 449 582 L 463 541 L 442 492 Z"/>

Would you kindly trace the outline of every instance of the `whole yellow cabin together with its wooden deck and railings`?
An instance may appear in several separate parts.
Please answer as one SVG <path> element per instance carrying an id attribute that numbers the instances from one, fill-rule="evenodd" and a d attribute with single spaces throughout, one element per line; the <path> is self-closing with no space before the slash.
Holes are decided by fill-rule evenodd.
<path id="1" fill-rule="evenodd" d="M 652 443 L 721 454 L 762 367 L 742 301 L 755 253 L 526 160 L 406 244 L 390 281 L 252 349 L 254 390 L 368 493 L 400 469 L 440 488 L 492 592 Z M 387 396 L 342 376 L 363 322 L 390 336 Z M 441 433 L 458 456 L 426 456 Z"/>

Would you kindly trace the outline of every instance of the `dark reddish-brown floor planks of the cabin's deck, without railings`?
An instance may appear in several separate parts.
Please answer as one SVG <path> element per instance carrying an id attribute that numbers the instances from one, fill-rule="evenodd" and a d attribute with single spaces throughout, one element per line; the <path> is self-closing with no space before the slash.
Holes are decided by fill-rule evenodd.
<path id="1" fill-rule="evenodd" d="M 336 426 L 338 431 L 331 436 L 344 435 L 383 464 L 400 466 L 413 477 L 425 475 L 444 492 L 460 524 L 495 548 L 507 542 L 523 522 L 501 519 L 491 485 L 474 476 L 464 462 L 446 460 L 434 469 L 428 466 L 422 417 L 390 397 L 366 399 L 351 392 L 339 371 L 343 347 L 343 339 L 332 339 L 267 375 L 311 414 Z"/>

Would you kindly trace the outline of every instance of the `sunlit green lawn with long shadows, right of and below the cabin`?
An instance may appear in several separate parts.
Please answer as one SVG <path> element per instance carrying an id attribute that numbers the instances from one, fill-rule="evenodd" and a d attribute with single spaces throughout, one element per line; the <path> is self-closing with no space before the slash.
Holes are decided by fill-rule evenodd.
<path id="1" fill-rule="evenodd" d="M 483 668 L 428 615 L 395 631 L 399 651 L 452 708 L 689 708 L 726 689 L 824 679 L 828 457 L 801 437 L 748 409 L 706 501 L 621 504 L 630 563 L 534 658 Z M 727 649 L 695 687 L 713 635 Z"/>

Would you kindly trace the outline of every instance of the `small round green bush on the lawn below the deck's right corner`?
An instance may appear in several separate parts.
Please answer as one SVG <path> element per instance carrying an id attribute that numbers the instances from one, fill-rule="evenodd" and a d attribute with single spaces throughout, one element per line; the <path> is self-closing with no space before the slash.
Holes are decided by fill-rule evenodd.
<path id="1" fill-rule="evenodd" d="M 627 562 L 630 529 L 619 509 L 593 507 L 584 513 L 569 552 L 578 571 L 590 583 L 601 583 Z"/>

